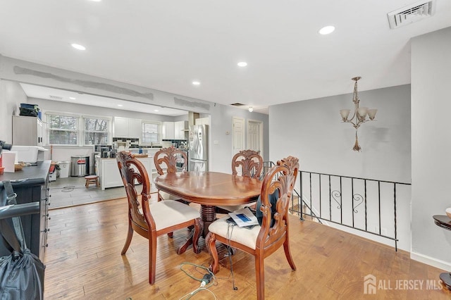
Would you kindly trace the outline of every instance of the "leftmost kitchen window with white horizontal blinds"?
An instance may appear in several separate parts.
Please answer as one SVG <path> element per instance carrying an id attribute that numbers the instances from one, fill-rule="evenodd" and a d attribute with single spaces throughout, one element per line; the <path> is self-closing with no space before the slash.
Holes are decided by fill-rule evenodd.
<path id="1" fill-rule="evenodd" d="M 80 131 L 78 123 L 80 118 L 70 115 L 46 114 L 47 117 L 47 142 L 58 145 L 77 145 Z"/>

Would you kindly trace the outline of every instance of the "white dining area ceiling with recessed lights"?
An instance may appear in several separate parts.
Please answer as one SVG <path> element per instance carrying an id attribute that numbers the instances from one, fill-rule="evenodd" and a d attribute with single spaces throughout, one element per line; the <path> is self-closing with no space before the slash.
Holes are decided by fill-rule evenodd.
<path id="1" fill-rule="evenodd" d="M 431 18 L 394 30 L 387 13 L 415 1 L 0 3 L 4 56 L 256 111 L 351 93 L 355 76 L 359 91 L 408 84 L 409 39 L 451 26 L 449 0 L 435 0 Z M 325 25 L 335 32 L 319 35 Z"/>

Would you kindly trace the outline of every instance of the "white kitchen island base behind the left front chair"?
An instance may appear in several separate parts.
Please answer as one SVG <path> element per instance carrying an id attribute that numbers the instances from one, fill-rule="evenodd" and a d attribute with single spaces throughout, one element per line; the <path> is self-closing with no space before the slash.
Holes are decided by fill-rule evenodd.
<path id="1" fill-rule="evenodd" d="M 152 159 L 150 157 L 138 157 L 149 175 L 149 181 L 152 182 Z M 101 189 L 109 187 L 123 186 L 121 173 L 119 173 L 118 162 L 116 158 L 100 158 L 99 181 Z"/>

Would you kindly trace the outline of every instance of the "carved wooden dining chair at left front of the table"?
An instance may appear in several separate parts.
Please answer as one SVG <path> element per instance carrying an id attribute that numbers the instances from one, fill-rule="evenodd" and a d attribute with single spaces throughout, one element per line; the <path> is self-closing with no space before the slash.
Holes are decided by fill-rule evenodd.
<path id="1" fill-rule="evenodd" d="M 198 254 L 197 240 L 201 229 L 200 214 L 197 209 L 173 200 L 155 201 L 149 204 L 150 183 L 144 165 L 130 152 L 126 151 L 121 151 L 116 156 L 116 161 L 128 198 L 128 234 L 121 254 L 124 255 L 127 252 L 134 231 L 149 239 L 149 283 L 153 285 L 155 282 L 157 237 L 174 230 L 193 226 L 194 230 L 191 230 L 187 241 L 178 248 L 177 253 L 182 254 L 192 243 L 194 253 Z M 142 192 L 139 196 L 136 185 L 142 185 Z"/>

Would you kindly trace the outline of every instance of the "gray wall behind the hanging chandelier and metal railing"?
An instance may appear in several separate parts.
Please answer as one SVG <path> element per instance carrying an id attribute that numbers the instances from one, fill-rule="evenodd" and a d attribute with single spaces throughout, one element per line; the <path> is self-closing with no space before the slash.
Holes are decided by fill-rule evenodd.
<path id="1" fill-rule="evenodd" d="M 340 109 L 353 105 L 352 94 L 344 94 L 271 106 L 271 161 L 292 155 L 299 158 L 300 170 L 409 183 L 410 85 L 359 92 L 359 98 L 361 107 L 378 108 L 376 121 L 364 123 L 359 128 L 362 152 L 352 151 L 354 127 L 341 121 Z M 295 189 L 299 191 L 299 185 Z M 410 251 L 410 187 L 404 187 L 402 195 L 398 196 L 398 247 Z M 309 193 L 304 192 L 304 197 L 309 199 Z M 382 205 L 393 207 L 393 199 L 382 199 Z M 319 207 L 314 208 L 319 210 Z M 373 214 L 376 215 L 376 211 Z M 371 217 L 369 230 L 375 231 L 377 223 L 371 224 Z M 381 227 L 390 223 L 393 223 L 393 212 L 383 215 Z M 388 232 L 393 226 L 388 227 Z M 357 231 L 354 233 L 362 235 Z M 363 236 L 375 239 L 372 235 Z M 377 240 L 394 246 L 391 240 Z"/>

